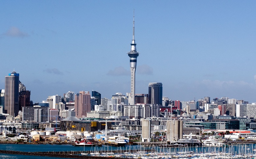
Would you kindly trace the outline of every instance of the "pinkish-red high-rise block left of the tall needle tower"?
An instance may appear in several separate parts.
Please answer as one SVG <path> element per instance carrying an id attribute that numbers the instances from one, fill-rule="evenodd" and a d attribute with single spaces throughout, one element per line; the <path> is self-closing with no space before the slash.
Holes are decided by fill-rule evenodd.
<path id="1" fill-rule="evenodd" d="M 82 118 L 91 111 L 91 95 L 87 91 L 80 91 L 75 95 L 75 116 Z"/>

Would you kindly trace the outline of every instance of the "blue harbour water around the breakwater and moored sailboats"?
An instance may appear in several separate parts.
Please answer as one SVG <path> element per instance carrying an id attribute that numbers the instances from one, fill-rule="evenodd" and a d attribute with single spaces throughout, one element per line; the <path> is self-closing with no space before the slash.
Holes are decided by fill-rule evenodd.
<path id="1" fill-rule="evenodd" d="M 136 153 L 138 151 L 144 152 L 159 152 L 159 153 L 179 153 L 179 152 L 190 152 L 193 151 L 194 153 L 197 154 L 208 154 L 208 153 L 222 153 L 225 152 L 226 154 L 228 153 L 233 153 L 233 154 L 255 154 L 256 156 L 256 151 L 255 151 L 256 145 L 255 144 L 247 144 L 247 145 L 233 145 L 225 148 L 219 148 L 219 147 L 187 147 L 187 148 L 160 148 L 160 147 L 143 147 L 139 145 L 134 145 L 130 146 L 127 145 L 125 147 L 111 147 L 111 146 L 105 146 L 102 145 L 102 147 L 74 147 L 72 145 L 34 145 L 34 144 L 0 144 L 0 149 L 1 150 L 12 150 L 12 151 L 24 151 L 24 152 L 78 152 L 78 151 L 114 151 L 114 150 L 119 150 L 121 153 L 122 150 L 130 151 L 131 153 Z M 224 153 L 224 154 L 225 154 Z M 254 156 L 251 155 L 249 158 L 253 158 Z M 29 155 L 14 155 L 14 154 L 0 154 L 0 158 L 5 158 L 5 159 L 34 159 L 35 156 L 29 156 Z M 37 159 L 50 159 L 52 157 L 44 157 L 44 156 L 36 156 Z M 179 157 L 175 157 L 179 158 Z M 192 157 L 190 157 L 192 159 Z M 198 157 L 194 157 L 195 159 Z M 201 158 L 201 157 L 199 157 Z M 208 157 L 207 157 L 208 158 Z M 210 157 L 209 157 L 210 158 Z M 243 158 L 243 157 L 241 157 Z M 55 157 L 54 159 L 62 159 Z"/>

